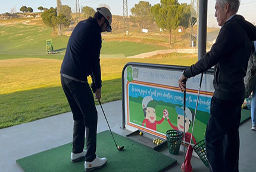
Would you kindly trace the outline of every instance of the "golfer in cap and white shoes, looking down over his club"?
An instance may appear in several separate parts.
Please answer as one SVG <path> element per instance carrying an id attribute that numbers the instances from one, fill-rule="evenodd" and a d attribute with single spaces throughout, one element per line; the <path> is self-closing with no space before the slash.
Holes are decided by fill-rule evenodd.
<path id="1" fill-rule="evenodd" d="M 73 113 L 73 148 L 71 161 L 85 158 L 85 171 L 101 168 L 106 158 L 96 152 L 98 112 L 87 77 L 96 85 L 95 98 L 101 100 L 101 33 L 111 32 L 112 15 L 108 8 L 97 8 L 95 15 L 80 21 L 68 40 L 67 50 L 61 65 L 61 85 Z M 86 132 L 86 150 L 85 146 Z"/>

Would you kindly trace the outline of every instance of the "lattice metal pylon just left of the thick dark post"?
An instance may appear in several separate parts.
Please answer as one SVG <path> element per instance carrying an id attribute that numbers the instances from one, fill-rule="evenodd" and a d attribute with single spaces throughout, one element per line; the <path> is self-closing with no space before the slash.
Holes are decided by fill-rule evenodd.
<path id="1" fill-rule="evenodd" d="M 191 0 L 191 18 L 190 18 L 190 26 L 191 26 L 191 34 L 189 35 L 189 40 L 192 47 L 197 47 L 198 45 L 198 5 L 199 0 Z M 194 28 L 196 24 L 196 28 Z"/>

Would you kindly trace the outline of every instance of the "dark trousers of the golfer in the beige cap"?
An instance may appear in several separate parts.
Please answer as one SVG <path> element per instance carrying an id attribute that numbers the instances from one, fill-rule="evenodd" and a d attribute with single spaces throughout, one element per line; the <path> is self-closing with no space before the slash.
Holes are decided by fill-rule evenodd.
<path id="1" fill-rule="evenodd" d="M 93 161 L 96 157 L 96 134 L 98 112 L 88 82 L 76 82 L 61 76 L 61 85 L 73 113 L 73 149 L 77 154 L 85 147 L 86 132 L 86 156 L 85 161 Z"/>

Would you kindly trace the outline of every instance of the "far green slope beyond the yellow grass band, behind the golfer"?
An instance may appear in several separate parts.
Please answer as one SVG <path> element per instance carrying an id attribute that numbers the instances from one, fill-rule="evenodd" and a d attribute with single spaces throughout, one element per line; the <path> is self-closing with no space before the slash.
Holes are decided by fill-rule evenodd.
<path id="1" fill-rule="evenodd" d="M 52 39 L 58 54 L 47 55 L 45 40 Z M 52 28 L 12 24 L 0 27 L 0 59 L 52 58 L 63 59 L 69 36 L 52 36 Z M 129 41 L 102 42 L 101 55 L 133 56 L 154 50 L 168 49 L 165 46 Z"/>

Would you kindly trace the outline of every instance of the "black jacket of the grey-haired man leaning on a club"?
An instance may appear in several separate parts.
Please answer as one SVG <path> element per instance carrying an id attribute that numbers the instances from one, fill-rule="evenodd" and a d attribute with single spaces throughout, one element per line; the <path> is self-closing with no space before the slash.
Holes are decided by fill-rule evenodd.
<path id="1" fill-rule="evenodd" d="M 214 97 L 235 100 L 244 97 L 243 78 L 251 55 L 256 27 L 241 15 L 234 15 L 220 29 L 216 43 L 202 59 L 183 72 L 190 78 L 214 66 Z"/>

